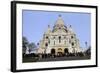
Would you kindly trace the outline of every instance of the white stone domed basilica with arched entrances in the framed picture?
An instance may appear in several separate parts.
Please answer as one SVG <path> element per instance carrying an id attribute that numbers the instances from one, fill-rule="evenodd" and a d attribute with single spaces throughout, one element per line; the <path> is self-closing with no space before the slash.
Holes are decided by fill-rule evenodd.
<path id="1" fill-rule="evenodd" d="M 55 22 L 53 29 L 48 25 L 47 31 L 43 34 L 43 39 L 39 42 L 39 54 L 66 54 L 80 52 L 79 40 L 72 30 L 71 25 L 65 25 L 61 15 Z"/>

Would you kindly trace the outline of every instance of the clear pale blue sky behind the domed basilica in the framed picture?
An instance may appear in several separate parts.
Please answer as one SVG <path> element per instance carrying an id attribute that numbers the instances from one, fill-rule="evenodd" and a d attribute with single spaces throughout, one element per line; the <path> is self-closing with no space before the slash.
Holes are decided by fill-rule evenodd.
<path id="1" fill-rule="evenodd" d="M 37 44 L 48 25 L 52 29 L 59 14 L 66 26 L 72 26 L 80 46 L 84 48 L 86 41 L 90 45 L 91 14 L 89 13 L 23 10 L 23 36 L 27 37 L 29 42 Z"/>

